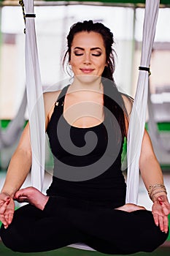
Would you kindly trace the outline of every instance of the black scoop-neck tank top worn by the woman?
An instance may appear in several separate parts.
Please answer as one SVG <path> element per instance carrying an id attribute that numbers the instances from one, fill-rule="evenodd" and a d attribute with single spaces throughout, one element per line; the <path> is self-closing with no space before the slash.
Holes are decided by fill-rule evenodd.
<path id="1" fill-rule="evenodd" d="M 126 185 L 121 167 L 123 140 L 117 141 L 110 120 L 94 127 L 71 126 L 63 117 L 66 86 L 47 126 L 53 153 L 53 181 L 47 195 L 85 200 L 99 206 L 125 204 Z"/>

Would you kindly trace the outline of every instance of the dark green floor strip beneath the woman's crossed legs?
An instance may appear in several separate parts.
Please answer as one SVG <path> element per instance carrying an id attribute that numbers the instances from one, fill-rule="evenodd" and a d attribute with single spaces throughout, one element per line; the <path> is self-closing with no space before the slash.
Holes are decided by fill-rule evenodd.
<path id="1" fill-rule="evenodd" d="M 80 249 L 73 249 L 69 247 L 64 247 L 62 249 L 53 250 L 50 252 L 33 252 L 33 253 L 21 253 L 21 252 L 12 252 L 11 250 L 7 249 L 1 242 L 0 242 L 0 255 L 1 256 L 104 256 L 104 254 L 99 252 L 90 252 Z M 165 247 L 161 246 L 160 248 L 156 249 L 154 252 L 139 252 L 135 253 L 136 256 L 169 256 L 170 255 L 170 246 Z M 108 256 L 108 255 L 106 255 Z"/>

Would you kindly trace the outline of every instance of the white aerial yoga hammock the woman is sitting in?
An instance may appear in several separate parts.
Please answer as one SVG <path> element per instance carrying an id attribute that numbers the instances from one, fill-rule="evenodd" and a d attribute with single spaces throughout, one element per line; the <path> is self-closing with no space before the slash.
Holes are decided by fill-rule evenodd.
<path id="1" fill-rule="evenodd" d="M 24 0 L 26 13 L 34 14 L 34 0 Z M 141 66 L 150 66 L 152 44 L 158 16 L 159 0 L 146 0 Z M 31 16 L 31 15 L 28 15 Z M 42 190 L 45 168 L 45 115 L 42 83 L 36 47 L 34 18 L 26 18 L 26 87 L 31 127 L 32 185 Z M 127 203 L 137 203 L 139 188 L 139 155 L 147 109 L 148 72 L 139 71 L 139 80 L 128 132 Z M 137 126 L 137 127 L 136 127 Z M 75 247 L 75 245 L 74 245 Z M 76 245 L 81 248 L 81 245 Z M 84 249 L 90 249 L 84 246 Z"/>

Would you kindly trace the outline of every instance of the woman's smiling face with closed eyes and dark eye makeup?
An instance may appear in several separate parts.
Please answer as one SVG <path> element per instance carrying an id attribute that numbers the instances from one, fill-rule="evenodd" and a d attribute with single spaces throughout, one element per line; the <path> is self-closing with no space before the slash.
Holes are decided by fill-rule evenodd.
<path id="1" fill-rule="evenodd" d="M 82 31 L 74 35 L 69 61 L 74 76 L 87 82 L 90 82 L 92 77 L 101 77 L 106 66 L 106 59 L 106 50 L 101 34 Z"/>

